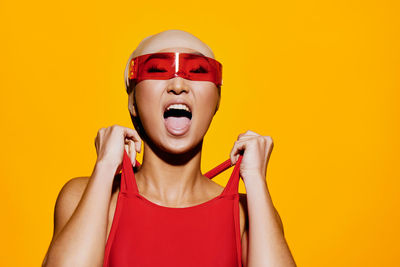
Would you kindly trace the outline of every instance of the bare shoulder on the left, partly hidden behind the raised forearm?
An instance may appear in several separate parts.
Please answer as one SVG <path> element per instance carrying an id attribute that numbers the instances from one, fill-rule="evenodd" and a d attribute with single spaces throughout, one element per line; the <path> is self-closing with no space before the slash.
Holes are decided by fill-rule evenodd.
<path id="1" fill-rule="evenodd" d="M 75 177 L 67 181 L 61 188 L 54 208 L 53 236 L 58 234 L 75 211 L 89 179 L 88 176 Z"/>

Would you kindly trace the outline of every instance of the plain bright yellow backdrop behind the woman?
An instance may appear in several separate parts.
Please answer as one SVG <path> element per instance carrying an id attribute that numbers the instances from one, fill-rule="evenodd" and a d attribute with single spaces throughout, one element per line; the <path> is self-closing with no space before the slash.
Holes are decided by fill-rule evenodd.
<path id="1" fill-rule="evenodd" d="M 91 174 L 97 130 L 133 127 L 130 53 L 167 29 L 199 37 L 224 66 L 202 170 L 228 159 L 238 134 L 270 135 L 267 182 L 298 266 L 399 266 L 399 11 L 382 0 L 1 0 L 0 266 L 41 264 L 57 194 Z"/>

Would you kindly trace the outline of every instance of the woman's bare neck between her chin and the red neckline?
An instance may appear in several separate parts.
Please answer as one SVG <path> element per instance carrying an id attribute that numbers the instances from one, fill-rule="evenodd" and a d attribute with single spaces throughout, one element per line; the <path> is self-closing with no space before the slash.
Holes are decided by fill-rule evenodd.
<path id="1" fill-rule="evenodd" d="M 200 170 L 202 143 L 177 155 L 155 151 L 154 146 L 144 142 L 143 162 L 135 173 L 139 193 L 171 205 L 190 202 L 204 182 Z"/>

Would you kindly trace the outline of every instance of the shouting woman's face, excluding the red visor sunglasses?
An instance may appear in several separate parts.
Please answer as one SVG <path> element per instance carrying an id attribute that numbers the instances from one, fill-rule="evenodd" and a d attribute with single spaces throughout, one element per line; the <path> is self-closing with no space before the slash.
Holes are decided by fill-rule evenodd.
<path id="1" fill-rule="evenodd" d="M 168 48 L 158 52 L 197 51 L 189 48 Z M 214 83 L 186 80 L 182 77 L 143 80 L 134 90 L 138 114 L 133 111 L 136 113 L 133 115 L 139 115 L 148 138 L 156 146 L 174 154 L 187 152 L 198 145 L 210 126 L 220 99 Z M 133 94 L 129 97 L 133 98 Z M 191 111 L 191 119 L 181 115 L 174 116 L 170 112 L 165 113 L 171 103 L 177 102 L 187 104 Z"/>

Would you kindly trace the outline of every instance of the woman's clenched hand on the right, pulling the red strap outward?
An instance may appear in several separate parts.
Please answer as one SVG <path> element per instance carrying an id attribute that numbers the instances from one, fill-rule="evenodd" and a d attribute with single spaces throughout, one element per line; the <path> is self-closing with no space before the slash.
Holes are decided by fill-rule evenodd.
<path id="1" fill-rule="evenodd" d="M 247 179 L 262 179 L 265 181 L 267 165 L 273 147 L 274 143 L 270 136 L 262 136 L 253 131 L 239 134 L 232 148 L 230 158 L 231 163 L 235 164 L 239 159 L 240 152 L 244 152 L 240 163 L 240 176 L 243 178 L 244 183 L 246 183 Z"/>

